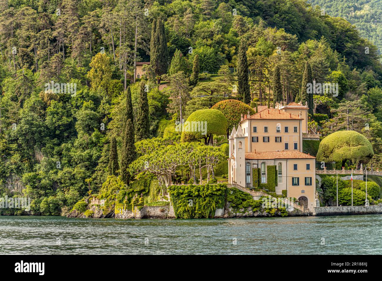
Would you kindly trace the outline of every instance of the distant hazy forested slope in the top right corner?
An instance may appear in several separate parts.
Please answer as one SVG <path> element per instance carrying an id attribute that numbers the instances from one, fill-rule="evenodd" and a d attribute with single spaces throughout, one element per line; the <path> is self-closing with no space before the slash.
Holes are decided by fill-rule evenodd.
<path id="1" fill-rule="evenodd" d="M 382 2 L 380 0 L 308 0 L 319 5 L 330 16 L 345 18 L 354 24 L 362 37 L 369 39 L 382 51 Z"/>

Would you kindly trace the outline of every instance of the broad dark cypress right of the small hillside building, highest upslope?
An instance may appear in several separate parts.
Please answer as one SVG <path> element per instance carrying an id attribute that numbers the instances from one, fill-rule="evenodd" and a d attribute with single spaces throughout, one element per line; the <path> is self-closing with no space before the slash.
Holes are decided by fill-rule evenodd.
<path id="1" fill-rule="evenodd" d="M 154 69 L 155 75 L 160 76 L 167 72 L 168 50 L 167 39 L 165 34 L 165 26 L 162 19 L 154 19 L 151 27 L 150 42 L 150 65 Z"/>

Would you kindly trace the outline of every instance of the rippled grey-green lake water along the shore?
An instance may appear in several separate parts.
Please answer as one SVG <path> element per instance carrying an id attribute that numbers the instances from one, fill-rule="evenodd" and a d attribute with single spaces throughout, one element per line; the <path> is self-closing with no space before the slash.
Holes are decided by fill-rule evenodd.
<path id="1" fill-rule="evenodd" d="M 117 220 L 0 216 L 1 254 L 380 254 L 382 216 Z"/>

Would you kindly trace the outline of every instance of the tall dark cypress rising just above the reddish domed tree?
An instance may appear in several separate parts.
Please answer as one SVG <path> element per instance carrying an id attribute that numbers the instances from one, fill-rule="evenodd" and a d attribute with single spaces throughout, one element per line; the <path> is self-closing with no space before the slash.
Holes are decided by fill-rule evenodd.
<path id="1" fill-rule="evenodd" d="M 248 61 L 247 61 L 247 43 L 244 39 L 241 39 L 238 50 L 238 95 L 243 99 L 244 103 L 251 101 L 251 92 L 249 90 L 248 79 Z"/>

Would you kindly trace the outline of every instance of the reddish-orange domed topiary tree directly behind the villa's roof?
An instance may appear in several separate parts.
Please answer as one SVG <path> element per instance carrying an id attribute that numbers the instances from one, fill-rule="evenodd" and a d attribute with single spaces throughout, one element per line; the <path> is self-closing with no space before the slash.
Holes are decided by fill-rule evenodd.
<path id="1" fill-rule="evenodd" d="M 255 114 L 255 111 L 248 104 L 240 100 L 222 100 L 216 103 L 211 109 L 217 109 L 223 112 L 228 121 L 227 138 L 230 135 L 230 130 L 233 126 L 237 127 L 240 122 L 241 114 L 246 115 L 249 111 L 250 115 Z"/>

